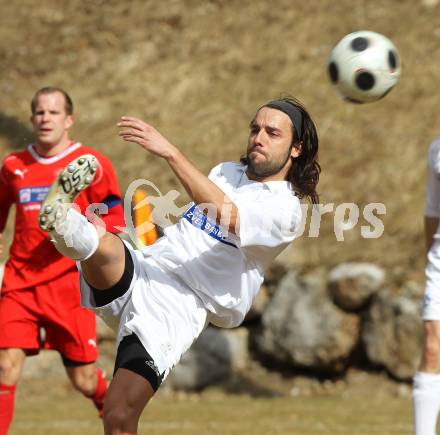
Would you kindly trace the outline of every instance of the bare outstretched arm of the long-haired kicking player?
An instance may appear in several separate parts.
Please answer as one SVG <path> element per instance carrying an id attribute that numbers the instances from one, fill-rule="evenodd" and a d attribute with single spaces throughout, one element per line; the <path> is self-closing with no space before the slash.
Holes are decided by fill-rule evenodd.
<path id="1" fill-rule="evenodd" d="M 225 193 L 208 177 L 200 172 L 173 144 L 154 127 L 140 119 L 123 116 L 118 123 L 119 135 L 127 142 L 139 144 L 152 154 L 165 159 L 179 178 L 188 195 L 196 204 L 210 204 L 217 213 L 220 223 L 222 211 L 229 213 L 229 228 L 238 233 L 238 209 Z M 222 222 L 224 223 L 224 222 Z"/>

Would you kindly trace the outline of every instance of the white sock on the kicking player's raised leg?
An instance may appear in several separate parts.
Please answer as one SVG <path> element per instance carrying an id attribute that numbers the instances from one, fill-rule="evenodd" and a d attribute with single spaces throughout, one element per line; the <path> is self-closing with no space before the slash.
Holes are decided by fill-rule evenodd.
<path id="1" fill-rule="evenodd" d="M 74 208 L 69 208 L 66 217 L 55 224 L 50 237 L 61 254 L 77 261 L 90 258 L 99 245 L 95 226 Z"/>

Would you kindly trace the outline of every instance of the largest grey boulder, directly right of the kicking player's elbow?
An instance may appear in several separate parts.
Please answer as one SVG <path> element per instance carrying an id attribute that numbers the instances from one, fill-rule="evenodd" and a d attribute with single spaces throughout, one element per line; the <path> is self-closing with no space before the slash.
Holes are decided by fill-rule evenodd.
<path id="1" fill-rule="evenodd" d="M 255 350 L 292 367 L 341 372 L 359 337 L 359 318 L 335 307 L 321 281 L 289 272 L 269 302 Z"/>

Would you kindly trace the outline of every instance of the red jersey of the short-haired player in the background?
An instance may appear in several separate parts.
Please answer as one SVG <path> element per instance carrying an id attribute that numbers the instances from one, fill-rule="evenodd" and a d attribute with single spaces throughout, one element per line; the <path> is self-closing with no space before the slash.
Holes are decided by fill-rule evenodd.
<path id="1" fill-rule="evenodd" d="M 104 203 L 109 212 L 101 219 L 107 231 L 118 232 L 114 226 L 125 226 L 117 178 L 110 160 L 102 154 L 80 143 L 72 143 L 51 157 L 40 156 L 33 145 L 8 155 L 0 169 L 0 232 L 3 232 L 12 204 L 16 204 L 16 214 L 2 292 L 33 287 L 76 270 L 75 262 L 62 256 L 48 234 L 40 229 L 38 213 L 57 175 L 82 154 L 96 156 L 99 168 L 92 184 L 78 195 L 75 203 L 83 214 L 89 204 Z"/>

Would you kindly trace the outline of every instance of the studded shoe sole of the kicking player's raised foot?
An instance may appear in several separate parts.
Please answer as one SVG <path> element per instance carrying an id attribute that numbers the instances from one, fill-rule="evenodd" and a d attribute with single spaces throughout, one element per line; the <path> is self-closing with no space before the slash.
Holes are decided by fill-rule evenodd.
<path id="1" fill-rule="evenodd" d="M 43 231 L 52 231 L 55 223 L 75 198 L 93 181 L 98 160 L 92 154 L 84 154 L 70 162 L 58 175 L 41 204 L 38 224 Z"/>

